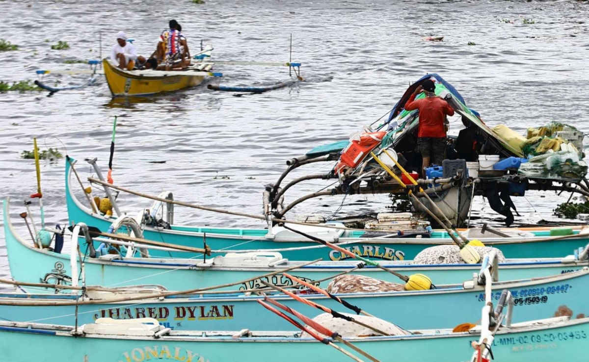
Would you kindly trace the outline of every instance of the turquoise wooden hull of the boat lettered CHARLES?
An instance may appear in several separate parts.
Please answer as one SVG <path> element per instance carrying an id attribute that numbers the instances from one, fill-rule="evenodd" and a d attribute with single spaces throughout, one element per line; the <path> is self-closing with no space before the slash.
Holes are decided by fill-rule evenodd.
<path id="1" fill-rule="evenodd" d="M 72 161 L 75 162 L 75 161 Z M 96 214 L 90 208 L 83 205 L 75 196 L 70 183 L 72 170 L 70 164 L 65 162 L 65 199 L 68 208 L 68 219 L 72 224 L 85 222 L 86 224 L 107 231 L 115 218 Z M 525 230 L 525 229 L 522 229 Z M 577 228 L 578 230 L 578 228 Z M 531 230 L 533 238 L 481 238 L 481 241 L 492 247 L 499 248 L 506 258 L 551 258 L 565 257 L 573 250 L 584 247 L 589 243 L 587 235 L 565 240 L 545 240 L 550 237 L 550 229 Z M 274 250 L 281 249 L 280 253 L 290 260 L 350 260 L 346 255 L 341 255 L 328 247 L 318 246 L 317 243 L 300 237 L 284 241 L 266 238 L 267 230 L 263 228 L 220 228 L 220 227 L 191 227 L 185 225 L 171 225 L 171 230 L 155 229 L 145 226 L 143 235 L 145 238 L 164 243 L 202 247 L 203 234 L 207 233 L 207 244 L 213 250 Z M 578 233 L 578 231 L 575 231 Z M 362 231 L 346 232 L 339 238 L 339 243 L 348 243 L 345 248 L 358 253 L 363 257 L 373 260 L 402 261 L 413 260 L 415 255 L 425 248 L 435 245 L 453 244 L 452 239 L 445 231 L 434 231 L 431 238 L 371 238 L 363 240 Z M 303 247 L 303 249 L 301 249 Z M 289 250 L 284 250 L 289 248 Z M 155 257 L 189 257 L 190 254 L 174 251 L 158 251 L 152 253 Z M 194 256 L 194 255 L 192 255 Z"/>

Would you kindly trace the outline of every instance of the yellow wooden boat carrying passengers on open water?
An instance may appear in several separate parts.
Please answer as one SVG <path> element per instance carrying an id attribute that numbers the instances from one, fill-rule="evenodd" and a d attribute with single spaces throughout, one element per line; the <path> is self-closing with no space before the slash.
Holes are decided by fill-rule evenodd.
<path id="1" fill-rule="evenodd" d="M 112 97 L 178 91 L 199 85 L 206 77 L 220 76 L 220 74 L 211 72 L 213 63 L 209 61 L 212 50 L 213 47 L 208 45 L 197 55 L 200 59 L 206 58 L 206 61 L 193 64 L 183 71 L 167 72 L 153 69 L 128 71 L 117 68 L 108 59 L 102 60 L 102 68 Z"/>

